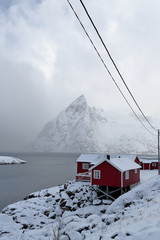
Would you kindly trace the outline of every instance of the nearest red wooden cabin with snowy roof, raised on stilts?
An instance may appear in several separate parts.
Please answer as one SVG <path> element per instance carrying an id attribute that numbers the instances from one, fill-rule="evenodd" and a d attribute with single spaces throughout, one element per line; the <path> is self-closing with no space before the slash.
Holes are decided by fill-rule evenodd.
<path id="1" fill-rule="evenodd" d="M 94 165 L 91 184 L 124 188 L 140 182 L 140 166 L 128 159 L 111 158 Z"/>

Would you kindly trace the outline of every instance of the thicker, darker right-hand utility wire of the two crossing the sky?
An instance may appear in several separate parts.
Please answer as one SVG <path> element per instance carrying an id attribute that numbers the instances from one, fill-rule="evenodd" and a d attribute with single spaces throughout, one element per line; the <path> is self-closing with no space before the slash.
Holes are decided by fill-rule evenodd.
<path id="1" fill-rule="evenodd" d="M 150 126 L 151 126 L 151 127 L 157 132 L 157 129 L 156 129 L 156 128 L 150 123 L 150 121 L 147 119 L 147 117 L 146 117 L 145 114 L 143 113 L 142 109 L 141 109 L 140 106 L 138 105 L 138 103 L 137 103 L 135 97 L 134 97 L 133 94 L 131 93 L 129 87 L 127 86 L 127 84 L 126 84 L 126 82 L 125 82 L 125 80 L 124 80 L 122 74 L 120 73 L 120 71 L 119 71 L 119 69 L 118 69 L 118 67 L 117 67 L 117 65 L 116 65 L 116 63 L 115 63 L 115 61 L 113 60 L 113 58 L 112 58 L 112 56 L 111 56 L 111 54 L 110 54 L 108 48 L 106 47 L 106 44 L 104 43 L 104 41 L 103 41 L 103 39 L 102 39 L 102 37 L 101 37 L 101 35 L 100 35 L 98 29 L 96 28 L 96 26 L 95 26 L 95 24 L 94 24 L 94 22 L 93 22 L 91 16 L 89 15 L 89 13 L 88 13 L 88 11 L 87 11 L 87 9 L 86 9 L 86 7 L 85 7 L 83 1 L 80 0 L 80 2 L 81 2 L 81 4 L 82 4 L 82 6 L 83 6 L 83 8 L 84 8 L 84 10 L 85 10 L 85 12 L 86 12 L 86 14 L 87 14 L 89 20 L 91 21 L 91 24 L 92 24 L 92 26 L 94 27 L 94 29 L 95 29 L 95 31 L 96 31 L 98 37 L 100 38 L 100 41 L 101 41 L 102 45 L 104 46 L 104 48 L 105 48 L 105 50 L 106 50 L 106 52 L 107 52 L 109 58 L 111 59 L 113 65 L 114 65 L 114 67 L 115 67 L 115 69 L 117 70 L 117 72 L 118 72 L 118 74 L 119 74 L 121 80 L 123 81 L 123 83 L 124 83 L 125 87 L 127 88 L 129 94 L 131 95 L 133 101 L 135 102 L 136 106 L 138 107 L 139 111 L 141 112 L 141 114 L 143 115 L 143 117 L 145 118 L 145 120 L 148 122 L 148 124 L 149 124 L 149 125 L 150 125 Z"/>

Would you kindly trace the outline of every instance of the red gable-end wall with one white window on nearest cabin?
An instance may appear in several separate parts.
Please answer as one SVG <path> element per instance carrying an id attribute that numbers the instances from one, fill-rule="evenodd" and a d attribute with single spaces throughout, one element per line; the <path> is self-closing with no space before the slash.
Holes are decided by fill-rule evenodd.
<path id="1" fill-rule="evenodd" d="M 94 170 L 101 171 L 101 179 L 94 179 Z M 108 162 L 103 162 L 92 169 L 92 185 L 121 187 L 121 172 Z"/>

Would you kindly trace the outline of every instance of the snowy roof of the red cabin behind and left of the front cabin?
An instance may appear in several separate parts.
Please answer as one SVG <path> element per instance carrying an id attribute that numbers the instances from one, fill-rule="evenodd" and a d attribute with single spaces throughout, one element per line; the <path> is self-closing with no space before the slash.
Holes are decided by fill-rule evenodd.
<path id="1" fill-rule="evenodd" d="M 89 162 L 91 164 L 96 164 L 102 160 L 105 160 L 107 154 L 81 154 L 76 162 Z"/>

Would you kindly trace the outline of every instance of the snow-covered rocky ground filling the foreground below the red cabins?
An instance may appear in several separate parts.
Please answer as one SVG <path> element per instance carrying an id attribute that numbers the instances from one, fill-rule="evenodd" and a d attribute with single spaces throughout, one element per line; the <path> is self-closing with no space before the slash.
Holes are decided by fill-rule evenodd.
<path id="1" fill-rule="evenodd" d="M 141 182 L 113 203 L 74 181 L 30 194 L 0 213 L 0 240 L 157 240 L 158 172 L 142 171 Z"/>

